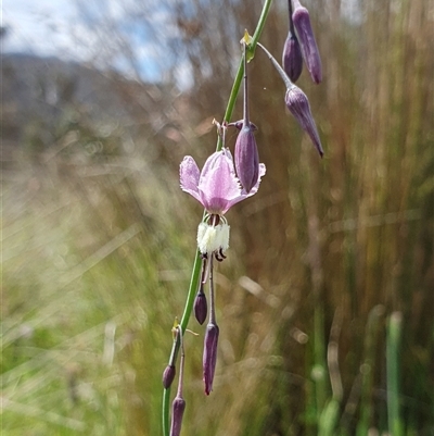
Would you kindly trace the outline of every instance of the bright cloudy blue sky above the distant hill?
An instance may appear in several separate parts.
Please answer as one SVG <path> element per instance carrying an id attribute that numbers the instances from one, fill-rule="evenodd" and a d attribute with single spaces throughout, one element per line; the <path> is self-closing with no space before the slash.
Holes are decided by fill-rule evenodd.
<path id="1" fill-rule="evenodd" d="M 133 49 L 141 78 L 161 80 L 168 65 L 167 61 L 164 64 L 165 58 L 161 57 L 162 50 L 156 47 L 155 40 L 162 40 L 167 35 L 170 24 L 158 0 L 146 0 L 144 4 L 152 13 L 149 23 L 153 28 L 148 30 L 143 22 L 133 23 L 131 14 L 126 12 L 133 11 L 137 5 L 135 0 L 3 0 L 2 25 L 8 28 L 8 35 L 2 42 L 2 50 L 5 53 L 25 52 L 64 60 L 92 61 L 98 65 L 108 59 L 104 59 L 104 55 L 110 55 L 108 48 L 113 43 L 107 38 L 101 42 L 101 35 L 95 30 L 100 25 L 98 20 L 103 23 L 110 17 L 120 29 L 128 29 L 125 35 Z M 86 9 L 89 15 L 84 13 Z M 155 29 L 158 28 L 165 33 L 157 35 L 158 30 Z M 110 62 L 131 75 L 125 58 L 111 59 Z M 187 70 L 187 65 L 179 65 L 177 76 L 180 77 L 178 85 L 181 88 L 189 85 Z"/>

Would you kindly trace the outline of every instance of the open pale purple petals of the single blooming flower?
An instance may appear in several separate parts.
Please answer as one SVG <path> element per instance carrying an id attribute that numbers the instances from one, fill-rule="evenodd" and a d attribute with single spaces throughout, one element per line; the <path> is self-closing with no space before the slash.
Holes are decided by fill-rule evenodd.
<path id="1" fill-rule="evenodd" d="M 179 178 L 181 189 L 193 196 L 209 214 L 224 215 L 233 204 L 257 192 L 265 171 L 265 165 L 260 163 L 259 177 L 247 192 L 235 176 L 231 152 L 224 148 L 206 160 L 202 172 L 191 155 L 183 158 Z"/>

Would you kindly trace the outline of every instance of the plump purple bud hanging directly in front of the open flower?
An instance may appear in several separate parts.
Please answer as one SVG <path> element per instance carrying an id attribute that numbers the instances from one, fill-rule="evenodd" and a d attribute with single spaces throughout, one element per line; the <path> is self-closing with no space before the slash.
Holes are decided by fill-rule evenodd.
<path id="1" fill-rule="evenodd" d="M 250 192 L 259 178 L 259 153 L 253 127 L 243 125 L 235 142 L 235 170 L 241 185 Z"/>

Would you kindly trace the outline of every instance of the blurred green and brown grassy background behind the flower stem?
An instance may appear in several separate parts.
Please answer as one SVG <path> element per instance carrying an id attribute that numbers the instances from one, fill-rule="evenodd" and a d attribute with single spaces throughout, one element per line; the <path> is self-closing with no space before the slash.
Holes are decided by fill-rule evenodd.
<path id="1" fill-rule="evenodd" d="M 324 82 L 304 72 L 299 86 L 322 161 L 256 53 L 251 116 L 267 175 L 228 214 L 209 397 L 203 328 L 192 320 L 200 336 L 186 337 L 184 435 L 434 435 L 433 3 L 358 2 L 348 21 L 340 1 L 306 2 Z M 104 103 L 82 104 L 58 75 L 59 116 L 18 122 L 3 68 L 5 436 L 161 433 L 161 376 L 202 213 L 178 165 L 214 150 L 210 121 L 260 4 L 219 11 L 174 11 L 183 37 L 171 53 L 189 59 L 191 91 L 101 75 L 118 119 L 94 116 Z M 286 22 L 276 2 L 261 41 L 278 59 Z"/>

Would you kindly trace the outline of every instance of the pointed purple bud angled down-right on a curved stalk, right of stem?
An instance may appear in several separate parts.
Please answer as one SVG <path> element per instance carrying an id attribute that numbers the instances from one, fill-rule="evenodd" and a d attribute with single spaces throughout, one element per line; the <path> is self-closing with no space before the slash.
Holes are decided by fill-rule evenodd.
<path id="1" fill-rule="evenodd" d="M 314 146 L 317 148 L 319 154 L 324 154 L 319 139 L 317 126 L 310 112 L 309 100 L 306 95 L 297 86 L 293 85 L 286 89 L 285 103 L 290 112 L 295 116 L 298 124 L 310 136 Z"/>

